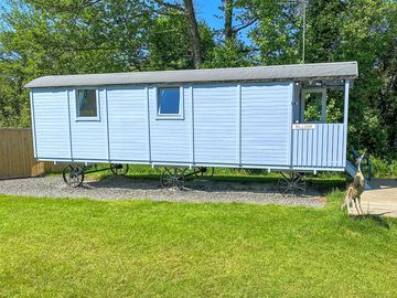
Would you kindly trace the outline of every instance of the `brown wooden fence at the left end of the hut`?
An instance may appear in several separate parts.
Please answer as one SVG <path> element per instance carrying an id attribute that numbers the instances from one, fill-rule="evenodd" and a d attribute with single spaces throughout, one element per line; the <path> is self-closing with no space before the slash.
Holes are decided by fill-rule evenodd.
<path id="1" fill-rule="evenodd" d="M 60 170 L 60 166 L 54 167 L 34 159 L 30 128 L 0 129 L 0 179 L 36 177 Z"/>

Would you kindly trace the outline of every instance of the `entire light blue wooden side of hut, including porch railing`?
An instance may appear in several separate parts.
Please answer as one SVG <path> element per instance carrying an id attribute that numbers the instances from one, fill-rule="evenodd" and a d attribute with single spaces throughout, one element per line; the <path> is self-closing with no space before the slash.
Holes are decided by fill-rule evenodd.
<path id="1" fill-rule="evenodd" d="M 155 86 L 100 88 L 99 120 L 94 121 L 76 119 L 74 89 L 33 89 L 36 157 L 157 166 L 345 167 L 343 124 L 291 129 L 292 87 L 185 85 L 183 119 L 157 117 Z"/>

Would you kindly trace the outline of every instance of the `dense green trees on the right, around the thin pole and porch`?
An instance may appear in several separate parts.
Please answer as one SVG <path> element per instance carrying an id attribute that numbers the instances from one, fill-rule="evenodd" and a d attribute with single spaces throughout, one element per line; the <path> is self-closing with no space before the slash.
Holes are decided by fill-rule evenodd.
<path id="1" fill-rule="evenodd" d="M 351 92 L 350 143 L 396 158 L 396 1 L 308 2 L 307 63 L 358 62 L 360 77 Z M 259 63 L 299 63 L 301 1 L 253 4 L 249 9 L 259 21 L 249 35 Z"/>

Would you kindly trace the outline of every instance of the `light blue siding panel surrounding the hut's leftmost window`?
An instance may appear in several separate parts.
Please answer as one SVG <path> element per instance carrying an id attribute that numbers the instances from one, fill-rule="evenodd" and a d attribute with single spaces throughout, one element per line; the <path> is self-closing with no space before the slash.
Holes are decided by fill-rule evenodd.
<path id="1" fill-rule="evenodd" d="M 107 160 L 108 140 L 105 91 L 99 89 L 99 120 L 76 119 L 75 91 L 69 91 L 72 153 L 74 160 Z"/>

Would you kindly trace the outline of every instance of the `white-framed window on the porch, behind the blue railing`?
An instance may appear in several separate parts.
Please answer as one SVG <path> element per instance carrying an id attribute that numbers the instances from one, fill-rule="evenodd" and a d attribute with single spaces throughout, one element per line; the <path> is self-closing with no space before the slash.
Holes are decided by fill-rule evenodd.
<path id="1" fill-rule="evenodd" d="M 302 111 L 304 123 L 325 123 L 326 89 L 303 89 Z"/>

